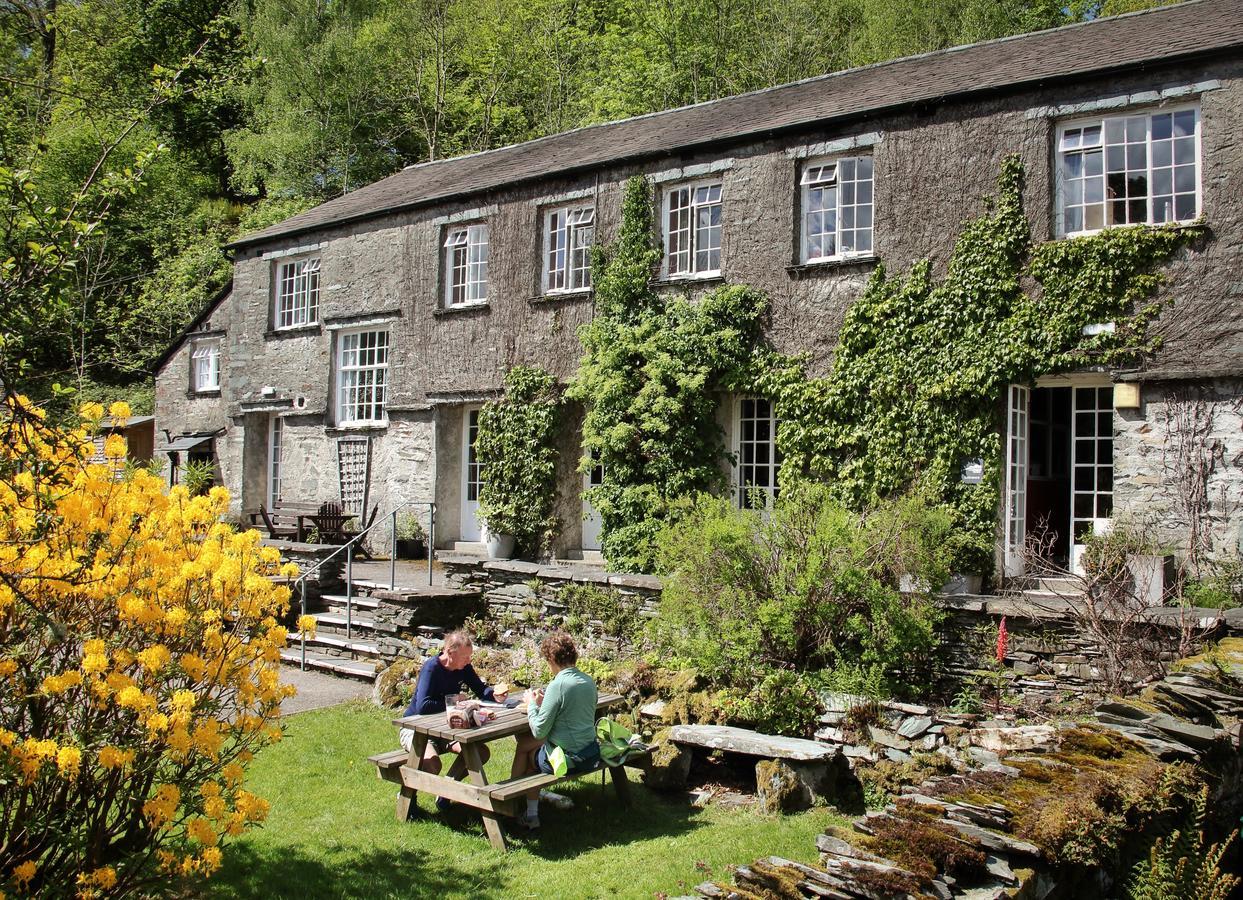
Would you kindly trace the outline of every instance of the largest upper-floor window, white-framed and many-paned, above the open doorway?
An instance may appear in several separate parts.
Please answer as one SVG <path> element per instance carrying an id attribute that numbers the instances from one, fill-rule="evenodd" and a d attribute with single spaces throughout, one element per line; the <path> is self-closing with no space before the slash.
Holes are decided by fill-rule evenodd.
<path id="1" fill-rule="evenodd" d="M 1059 231 L 1199 215 L 1199 109 L 1108 116 L 1058 128 Z"/>

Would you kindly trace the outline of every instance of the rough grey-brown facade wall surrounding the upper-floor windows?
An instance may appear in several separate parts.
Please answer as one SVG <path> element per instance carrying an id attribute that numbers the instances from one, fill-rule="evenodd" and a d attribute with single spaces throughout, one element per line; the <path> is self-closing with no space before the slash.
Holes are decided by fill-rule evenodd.
<path id="1" fill-rule="evenodd" d="M 413 491 L 426 491 L 440 505 L 438 544 L 451 546 L 460 531 L 460 404 L 484 399 L 501 384 L 505 369 L 536 364 L 568 379 L 577 368 L 577 329 L 593 315 L 590 295 L 541 298 L 539 241 L 542 210 L 568 191 L 594 198 L 597 241 L 617 232 L 625 179 L 646 174 L 660 179 L 715 164 L 723 181 L 722 275 L 753 285 L 772 301 L 768 338 L 784 352 L 805 352 L 813 373 L 833 358 L 845 311 L 863 292 L 874 261 L 800 267 L 796 255 L 798 159 L 815 154 L 825 142 L 873 135 L 875 158 L 875 249 L 891 272 L 931 257 L 943 271 L 953 236 L 963 219 L 979 213 L 979 198 L 991 193 L 1002 158 L 1018 153 L 1027 167 L 1024 198 L 1033 236 L 1053 234 L 1050 165 L 1057 111 L 1070 103 L 1108 101 L 1170 86 L 1216 83 L 1198 94 L 1202 109 L 1202 183 L 1204 218 L 1212 237 L 1183 251 L 1166 271 L 1163 296 L 1175 302 L 1162 316 L 1166 353 L 1186 347 L 1238 343 L 1238 311 L 1222 312 L 1222 286 L 1234 283 L 1243 264 L 1243 154 L 1234 135 L 1243 131 L 1243 62 L 1212 62 L 1119 76 L 1109 81 L 1050 83 L 1024 92 L 943 104 L 902 114 L 834 122 L 767 142 L 720 145 L 644 165 L 602 169 L 515 186 L 486 196 L 415 209 L 372 221 L 351 223 L 313 235 L 278 239 L 237 252 L 232 322 L 225 352 L 227 385 L 219 405 L 239 413 L 275 388 L 282 402 L 302 399 L 307 429 L 319 429 L 326 445 L 332 433 L 332 323 L 369 313 L 392 315 L 388 431 L 374 431 L 378 456 L 392 460 L 387 480 L 373 474 L 372 498 L 388 508 Z M 1155 94 L 1154 94 L 1155 97 Z M 444 310 L 441 260 L 446 220 L 477 215 L 490 227 L 488 302 L 469 310 Z M 281 259 L 313 252 L 322 260 L 321 324 L 296 332 L 271 331 L 272 281 Z M 692 293 L 710 283 L 669 287 Z M 1237 306 L 1237 305 L 1234 305 Z M 1238 351 L 1238 347 L 1233 348 Z M 170 369 L 160 382 L 177 380 Z M 159 392 L 159 426 L 185 416 L 184 398 Z M 435 409 L 435 411 L 431 411 Z M 434 436 L 410 449 L 395 434 L 403 414 L 429 416 Z M 423 421 L 423 419 L 418 419 Z M 410 420 L 411 423 L 415 419 Z M 250 419 L 246 420 L 250 426 Z M 306 440 L 316 440 L 307 435 Z M 459 446 L 452 446 L 457 443 Z M 231 487 L 241 480 L 237 454 L 246 441 L 227 440 Z M 306 450 L 306 466 L 323 469 L 327 451 Z M 1125 465 L 1119 451 L 1119 462 Z M 388 464 L 385 464 L 388 465 Z M 410 469 L 403 482 L 399 469 Z M 566 480 L 558 513 L 566 530 L 558 549 L 574 543 L 571 506 L 578 474 L 562 467 Z M 247 471 L 250 471 L 247 469 Z M 336 479 L 302 474 L 307 490 L 327 490 Z M 435 481 L 433 487 L 433 480 Z M 251 494 L 252 491 L 247 491 Z"/>

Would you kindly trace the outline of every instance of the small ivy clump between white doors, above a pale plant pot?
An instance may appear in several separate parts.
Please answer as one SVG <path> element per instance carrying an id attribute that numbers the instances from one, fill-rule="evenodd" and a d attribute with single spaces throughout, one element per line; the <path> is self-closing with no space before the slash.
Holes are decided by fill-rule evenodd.
<path id="1" fill-rule="evenodd" d="M 557 425 L 562 402 L 543 369 L 515 365 L 505 394 L 479 413 L 479 512 L 495 535 L 538 552 L 556 531 Z"/>

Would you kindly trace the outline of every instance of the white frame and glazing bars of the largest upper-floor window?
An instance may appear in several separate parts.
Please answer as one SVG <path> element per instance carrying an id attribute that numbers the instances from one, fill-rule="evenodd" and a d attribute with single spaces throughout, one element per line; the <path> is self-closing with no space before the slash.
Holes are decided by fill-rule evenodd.
<path id="1" fill-rule="evenodd" d="M 1181 135 L 1180 139 L 1187 139 L 1186 145 L 1180 145 L 1178 139 L 1175 139 L 1173 126 L 1175 117 L 1180 113 L 1191 112 L 1193 114 L 1193 132 L 1187 135 Z M 1171 138 L 1154 137 L 1154 119 L 1157 117 L 1171 117 Z M 1131 140 L 1127 137 L 1122 138 L 1119 143 L 1115 135 L 1110 132 L 1117 128 L 1116 123 L 1121 123 L 1124 134 L 1126 132 L 1127 121 L 1144 119 L 1144 135 L 1142 139 Z M 1201 158 L 1201 134 L 1202 134 L 1202 117 L 1199 113 L 1198 103 L 1183 103 L 1178 106 L 1170 107 L 1157 107 L 1147 109 L 1131 109 L 1126 112 L 1115 112 L 1112 114 L 1096 114 L 1090 117 L 1081 117 L 1068 119 L 1066 122 L 1058 123 L 1057 129 L 1057 143 L 1053 148 L 1053 170 L 1054 170 L 1054 184 L 1055 184 L 1055 216 L 1057 216 L 1057 232 L 1059 237 L 1074 237 L 1075 235 L 1090 235 L 1098 234 L 1106 227 L 1120 227 L 1125 225 L 1161 225 L 1168 223 L 1190 223 L 1199 218 L 1203 211 L 1203 164 Z M 1163 158 L 1163 144 L 1170 142 L 1171 158 L 1168 164 L 1165 164 Z M 1191 162 L 1187 162 L 1187 149 L 1190 145 Z M 1135 159 L 1131 158 L 1132 148 L 1136 150 Z M 1137 157 L 1139 150 L 1142 149 L 1142 160 Z M 1182 155 L 1175 159 L 1175 155 L 1182 149 Z M 1155 158 L 1156 153 L 1156 158 Z M 1098 164 L 1093 164 L 1089 154 L 1096 154 L 1099 158 L 1100 172 L 1095 172 Z M 1069 163 L 1070 157 L 1076 157 L 1080 162 L 1078 164 L 1078 173 L 1071 174 L 1071 164 Z M 1175 162 L 1180 165 L 1175 167 Z M 1121 163 L 1124 165 L 1122 170 L 1115 168 L 1114 174 L 1119 172 L 1124 178 L 1129 174 L 1142 173 L 1145 180 L 1145 214 L 1144 219 L 1134 219 L 1126 221 L 1130 218 L 1130 210 L 1124 209 L 1124 219 L 1117 219 L 1119 198 L 1110 198 L 1110 168 Z M 1132 168 L 1132 163 L 1135 163 Z M 1089 174 L 1089 167 L 1093 168 L 1091 174 Z M 1142 167 L 1142 168 L 1141 168 Z M 1193 169 L 1193 195 L 1195 195 L 1195 209 L 1188 215 L 1180 216 L 1178 213 L 1178 198 L 1186 198 L 1192 194 L 1192 191 L 1182 190 L 1176 191 L 1176 183 L 1178 173 L 1176 169 Z M 1156 190 L 1163 185 L 1156 184 L 1157 177 L 1165 172 L 1168 172 L 1170 178 L 1170 193 L 1160 193 Z M 1100 199 L 1096 199 L 1099 194 Z M 1135 196 L 1132 203 L 1139 203 L 1139 195 Z M 1157 204 L 1168 203 L 1170 206 L 1166 209 L 1158 209 Z M 1125 205 L 1125 204 L 1124 204 Z M 1071 213 L 1078 210 L 1078 221 L 1073 220 Z M 1090 216 L 1090 213 L 1099 210 L 1096 216 Z M 1095 221 L 1099 218 L 1099 225 Z M 1091 219 L 1091 221 L 1090 221 Z"/>

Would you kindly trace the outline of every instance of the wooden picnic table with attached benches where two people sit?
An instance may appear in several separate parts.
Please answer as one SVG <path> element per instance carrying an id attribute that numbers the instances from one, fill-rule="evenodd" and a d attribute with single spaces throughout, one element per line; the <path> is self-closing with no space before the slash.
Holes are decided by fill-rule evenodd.
<path id="1" fill-rule="evenodd" d="M 595 704 L 597 715 L 620 701 L 622 696 L 618 694 L 600 694 Z M 415 802 L 415 793 L 418 791 L 426 791 L 435 797 L 446 797 L 456 803 L 464 803 L 480 809 L 484 813 L 484 829 L 487 832 L 488 842 L 497 850 L 505 850 L 505 835 L 501 833 L 501 823 L 497 817 L 517 815 L 516 804 L 525 801 L 528 791 L 554 784 L 562 778 L 539 773 L 488 784 L 479 748 L 497 738 L 515 737 L 523 732 L 530 733 L 526 707 L 518 706 L 497 710 L 496 712 L 497 716 L 495 720 L 474 728 L 450 728 L 444 712 L 404 716 L 393 720 L 393 723 L 399 728 L 409 728 L 414 732 L 414 743 L 410 747 L 409 755 L 405 751 L 393 751 L 373 756 L 370 760 L 379 769 L 380 778 L 397 781 L 401 784 L 401 792 L 397 798 L 397 818 L 399 822 L 405 822 L 409 818 L 410 808 Z M 431 774 L 419 768 L 419 763 L 423 760 L 423 751 L 428 746 L 428 741 L 433 737 L 439 737 L 449 743 L 456 741 L 461 745 L 461 756 L 466 763 L 466 774 L 470 778 L 469 784 L 443 774 Z M 404 757 L 405 765 L 399 765 L 400 757 Z M 612 771 L 613 783 L 617 786 L 618 793 L 624 797 L 625 772 L 622 766 Z M 574 776 L 564 777 L 572 778 Z"/>

